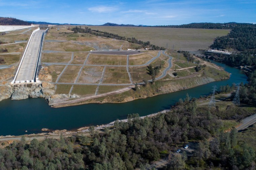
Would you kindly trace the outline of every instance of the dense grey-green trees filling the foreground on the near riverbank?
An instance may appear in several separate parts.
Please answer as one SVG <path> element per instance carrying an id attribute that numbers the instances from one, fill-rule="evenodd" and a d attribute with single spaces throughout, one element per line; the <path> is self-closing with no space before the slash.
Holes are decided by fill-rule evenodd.
<path id="1" fill-rule="evenodd" d="M 151 161 L 168 158 L 165 169 L 170 170 L 249 170 L 254 166 L 255 151 L 247 144 L 237 143 L 236 129 L 224 133 L 218 114 L 246 116 L 236 108 L 198 108 L 196 99 L 187 95 L 165 114 L 144 119 L 132 114 L 127 122 L 116 122 L 113 128 L 100 133 L 91 126 L 89 137 L 33 139 L 28 144 L 23 136 L 21 142 L 0 150 L 0 169 L 132 170 L 146 169 Z M 176 153 L 189 141 L 191 148 L 194 145 L 192 154 Z"/>

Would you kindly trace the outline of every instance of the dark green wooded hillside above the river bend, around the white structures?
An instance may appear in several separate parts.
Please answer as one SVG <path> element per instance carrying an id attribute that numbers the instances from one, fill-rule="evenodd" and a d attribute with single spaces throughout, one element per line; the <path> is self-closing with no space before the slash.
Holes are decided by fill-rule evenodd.
<path id="1" fill-rule="evenodd" d="M 231 55 L 205 52 L 230 66 L 255 66 L 256 24 L 236 26 L 227 36 L 216 38 L 211 48 L 235 50 L 236 53 Z"/>

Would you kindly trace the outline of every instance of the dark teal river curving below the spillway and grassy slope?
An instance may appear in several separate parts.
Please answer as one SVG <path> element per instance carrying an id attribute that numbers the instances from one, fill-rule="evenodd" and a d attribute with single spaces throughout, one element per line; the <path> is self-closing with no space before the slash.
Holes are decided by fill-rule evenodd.
<path id="1" fill-rule="evenodd" d="M 199 98 L 201 95 L 209 95 L 214 85 L 219 88 L 226 84 L 231 86 L 232 83 L 247 82 L 247 76 L 241 70 L 222 63 L 214 63 L 231 73 L 230 79 L 127 103 L 85 104 L 51 108 L 43 98 L 19 101 L 3 100 L 0 102 L 0 135 L 41 133 L 42 128 L 71 130 L 83 126 L 106 124 L 116 119 L 125 119 L 128 114 L 132 113 L 145 116 L 169 109 L 180 98 L 185 98 L 187 93 L 191 97 Z M 28 132 L 25 132 L 26 130 Z"/>

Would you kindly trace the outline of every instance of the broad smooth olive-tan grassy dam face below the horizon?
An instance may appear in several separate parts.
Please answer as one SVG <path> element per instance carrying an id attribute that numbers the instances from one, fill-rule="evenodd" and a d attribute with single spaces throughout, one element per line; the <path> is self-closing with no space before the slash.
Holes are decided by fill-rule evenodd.
<path id="1" fill-rule="evenodd" d="M 135 37 L 141 41 L 168 49 L 194 51 L 207 49 L 216 37 L 227 35 L 230 30 L 215 29 L 185 29 L 161 27 L 125 27 L 125 26 L 88 26 L 93 30 L 118 34 L 125 37 Z"/>

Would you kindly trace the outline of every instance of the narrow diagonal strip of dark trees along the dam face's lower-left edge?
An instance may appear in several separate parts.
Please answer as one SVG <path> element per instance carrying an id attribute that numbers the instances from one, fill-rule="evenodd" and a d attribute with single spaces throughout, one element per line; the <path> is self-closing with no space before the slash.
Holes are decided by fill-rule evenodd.
<path id="1" fill-rule="evenodd" d="M 149 41 L 148 42 L 143 42 L 143 41 L 137 40 L 134 37 L 126 38 L 126 37 L 122 37 L 122 36 L 119 36 L 119 35 L 113 34 L 113 33 L 102 32 L 102 31 L 99 31 L 99 30 L 92 30 L 88 27 L 82 28 L 81 26 L 79 26 L 79 27 L 76 26 L 76 27 L 72 28 L 71 30 L 74 31 L 74 33 L 87 33 L 87 34 L 92 34 L 92 35 L 95 35 L 95 36 L 101 36 L 101 37 L 106 37 L 106 38 L 126 40 L 130 43 L 139 44 L 143 48 L 150 48 L 151 50 L 165 50 L 164 47 L 155 46 L 153 44 L 150 44 Z"/>

